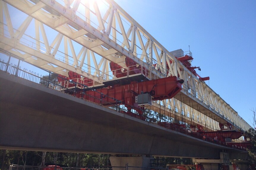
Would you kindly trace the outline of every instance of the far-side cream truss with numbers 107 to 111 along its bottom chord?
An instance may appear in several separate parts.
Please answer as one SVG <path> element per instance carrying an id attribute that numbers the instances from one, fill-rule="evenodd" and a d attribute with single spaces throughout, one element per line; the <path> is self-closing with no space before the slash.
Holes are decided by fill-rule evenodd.
<path id="1" fill-rule="evenodd" d="M 2 3 L 2 1 L 1 1 L 1 3 Z M 4 4 L 4 3 L 3 3 Z M 13 48 L 13 47 L 15 47 L 15 45 L 16 44 L 18 44 L 18 43 L 20 43 L 20 37 L 22 36 L 22 35 L 25 35 L 24 34 L 24 32 L 25 32 L 25 30 L 27 29 L 27 27 L 28 27 L 28 25 L 29 25 L 29 23 L 31 22 L 31 19 L 32 19 L 32 17 L 27 17 L 27 19 L 23 22 L 23 24 L 20 26 L 20 28 L 18 29 L 18 30 L 16 30 L 16 32 L 14 33 L 14 29 L 12 28 L 12 24 L 11 24 L 11 19 L 10 19 L 10 15 L 9 15 L 9 13 L 8 13 L 8 9 L 7 9 L 7 6 L 6 6 L 6 4 L 4 4 L 4 12 L 5 12 L 5 18 L 6 18 L 6 20 L 7 21 L 9 21 L 9 22 L 7 22 L 7 27 L 8 27 L 8 31 L 10 32 L 10 36 L 11 36 L 11 38 L 10 38 L 10 40 L 8 40 L 8 39 L 5 39 L 5 40 L 7 40 L 6 42 L 6 44 L 4 45 L 2 45 L 1 47 L 2 48 L 4 48 L 4 50 L 5 51 L 8 51 L 8 52 L 11 52 L 11 53 L 13 53 L 14 55 L 16 55 L 16 56 L 20 56 L 22 59 L 25 59 L 25 61 L 27 61 L 27 62 L 30 62 L 30 63 L 32 63 L 32 64 L 34 64 L 34 65 L 37 65 L 37 66 L 39 66 L 39 67 L 43 67 L 43 68 L 45 68 L 45 69 L 48 69 L 48 70 L 50 70 L 50 71 L 53 71 L 53 72 L 58 72 L 58 73 L 60 73 L 60 70 L 63 70 L 63 69 L 68 69 L 68 70 L 70 70 L 70 71 L 73 71 L 73 72 L 76 72 L 77 71 L 77 68 L 79 68 L 80 67 L 80 69 L 82 68 L 82 66 L 83 66 L 83 62 L 84 62 L 84 59 L 85 59 L 85 54 L 86 54 L 86 51 L 87 51 L 87 48 L 85 48 L 85 47 L 82 47 L 82 49 L 84 49 L 84 53 L 83 53 L 83 56 L 82 56 L 82 59 L 81 59 L 81 63 L 80 63 L 80 65 L 79 65 L 79 67 L 78 67 L 78 59 L 77 58 L 80 58 L 81 57 L 81 52 L 83 52 L 82 51 L 82 49 L 80 50 L 80 52 L 79 52 L 79 54 L 76 56 L 75 55 L 75 52 L 74 52 L 74 48 L 73 48 L 73 45 L 72 45 L 72 41 L 69 39 L 69 38 L 67 38 L 67 37 L 64 37 L 64 39 L 66 40 L 66 41 L 68 41 L 68 43 L 69 43 L 69 46 L 70 46 L 70 48 L 71 48 L 71 52 L 72 52 L 72 56 L 73 56 L 73 59 L 74 59 L 74 63 L 75 63 L 75 65 L 76 65 L 76 67 L 70 67 L 70 66 L 67 66 L 67 64 L 61 64 L 59 61 L 57 61 L 57 60 L 55 60 L 54 59 L 54 56 L 56 55 L 56 52 L 58 51 L 58 48 L 59 48 L 59 45 L 60 45 L 60 42 L 61 42 L 61 40 L 62 40 L 62 38 L 63 38 L 63 35 L 61 35 L 61 34 L 58 34 L 57 36 L 56 36 L 56 38 L 54 39 L 54 41 L 53 41 L 53 43 L 49 46 L 49 43 L 48 43 L 48 38 L 47 38 L 47 35 L 46 35 L 46 33 L 45 33 L 45 30 L 44 30 L 44 27 L 43 27 L 43 24 L 41 23 L 41 22 L 38 22 L 37 20 L 35 20 L 35 28 L 36 28 L 36 38 L 34 38 L 34 40 L 36 40 L 36 42 L 35 42 L 35 44 L 36 44 L 36 50 L 37 51 L 41 51 L 41 52 L 43 52 L 41 49 L 40 49 L 40 43 L 42 43 L 42 41 L 40 41 L 39 40 L 39 27 L 40 27 L 40 30 L 41 30 L 41 32 L 42 32 L 42 37 L 43 37 L 43 42 L 44 42 L 44 44 L 45 44 L 45 49 L 46 49 L 46 51 L 45 51 L 45 54 L 46 55 L 48 55 L 48 59 L 47 59 L 47 57 L 45 58 L 41 58 L 42 60 L 41 60 L 41 63 L 39 63 L 39 60 L 35 60 L 33 57 L 32 57 L 32 55 L 31 54 L 35 54 L 34 52 L 31 52 L 31 51 L 35 51 L 35 48 L 34 47 L 31 47 L 31 49 L 29 49 L 28 50 L 28 48 L 20 48 L 19 50 L 20 51 L 23 51 L 23 52 L 26 52 L 26 53 L 28 53 L 28 54 L 30 54 L 30 55 L 25 55 L 25 54 L 19 54 L 19 52 L 16 50 L 16 51 L 11 51 L 11 49 Z M 2 17 L 1 17 L 2 18 Z M 25 24 L 24 24 L 25 23 Z M 26 26 L 24 26 L 24 25 L 26 25 Z M 4 25 L 3 25 L 3 22 L 1 22 L 1 35 L 3 35 L 4 34 Z M 8 36 L 7 36 L 8 37 Z M 27 36 L 27 37 L 29 37 L 29 36 Z M 32 40 L 33 40 L 33 38 L 32 38 Z M 8 44 L 8 42 L 12 42 L 12 43 L 9 43 L 9 45 L 10 46 L 8 46 L 7 44 Z M 57 44 L 57 45 L 56 45 Z M 66 43 L 67 44 L 67 43 Z M 56 46 L 55 46 L 56 45 Z M 8 46 L 8 47 L 7 47 Z M 53 50 L 53 52 L 51 53 L 50 51 L 53 49 L 53 46 L 55 46 L 54 47 L 54 50 Z M 24 51 L 24 49 L 26 49 L 26 51 Z M 65 47 L 65 52 L 67 51 L 67 46 Z M 89 50 L 88 50 L 89 51 Z M 90 53 L 87 53 L 87 58 L 89 58 L 89 54 Z M 93 54 L 93 53 L 92 53 Z M 66 56 L 67 54 L 65 54 L 65 56 Z M 30 57 L 30 58 L 29 58 Z M 38 56 L 37 56 L 38 57 Z M 32 59 L 33 58 L 33 59 Z M 39 57 L 40 58 L 40 57 Z M 53 58 L 53 59 L 52 59 Z M 103 58 L 102 58 L 103 59 Z M 48 62 L 45 62 L 45 61 L 43 61 L 43 60 L 48 60 Z M 51 61 L 50 61 L 51 60 Z M 66 60 L 66 59 L 65 59 Z M 94 60 L 94 62 L 96 62 L 96 59 L 95 59 L 95 56 L 93 57 L 93 60 Z M 56 65 L 56 66 L 59 66 L 59 67 L 49 67 L 50 65 L 50 62 L 52 63 L 52 64 L 54 64 L 54 65 Z M 89 61 L 89 60 L 88 60 Z M 67 61 L 66 61 L 67 62 Z M 97 76 L 95 76 L 96 74 L 98 74 L 98 75 L 100 75 L 100 76 L 102 76 L 103 77 L 103 73 L 101 73 L 101 74 L 99 74 L 99 67 L 101 67 L 101 65 L 102 65 L 102 63 L 104 63 L 105 65 L 107 65 L 108 63 L 106 63 L 106 61 L 105 61 L 105 59 L 104 59 L 104 61 L 100 61 L 99 62 L 99 64 L 95 64 L 96 65 L 96 67 L 97 67 L 97 69 L 96 69 L 96 72 L 97 73 L 94 73 L 94 75 L 93 74 L 91 74 L 90 72 L 89 73 L 87 73 L 87 72 L 85 72 L 85 71 L 81 71 L 81 75 L 82 76 L 86 76 L 86 77 L 89 77 L 89 78 L 91 78 L 91 79 L 94 79 L 94 80 L 96 80 L 96 81 L 98 81 L 98 82 L 102 82 L 102 80 L 100 80 L 99 79 L 99 77 L 97 77 Z M 47 65 L 48 64 L 48 65 Z M 72 63 L 69 63 L 69 64 L 72 64 Z M 67 66 L 67 67 L 66 67 Z M 90 67 L 90 70 L 91 70 L 91 66 L 89 66 Z M 103 70 L 105 70 L 105 71 L 107 71 L 108 72 L 108 67 L 106 68 L 105 66 L 103 66 Z M 89 70 L 89 71 L 90 71 Z M 61 72 L 61 74 L 63 74 L 63 75 L 66 75 L 67 76 L 67 72 Z"/>

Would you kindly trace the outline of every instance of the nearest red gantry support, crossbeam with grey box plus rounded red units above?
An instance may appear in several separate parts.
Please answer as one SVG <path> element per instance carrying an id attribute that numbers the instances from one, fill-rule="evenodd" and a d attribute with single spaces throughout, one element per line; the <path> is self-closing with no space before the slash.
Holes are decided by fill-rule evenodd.
<path id="1" fill-rule="evenodd" d="M 128 63 L 129 59 L 127 60 Z M 129 61 L 131 62 L 131 61 Z M 131 64 L 132 67 L 129 67 L 129 74 L 139 74 L 141 68 L 137 68 L 134 62 Z M 129 64 L 127 64 L 129 65 Z M 110 62 L 110 68 L 120 69 L 121 66 L 118 64 L 113 64 Z M 113 72 L 116 70 L 113 70 Z M 146 72 L 146 69 L 143 72 Z M 117 75 L 126 74 L 127 70 L 124 72 L 119 72 Z M 75 88 L 80 89 L 80 93 L 77 93 L 77 97 L 83 97 L 87 100 L 90 100 L 94 103 L 99 103 L 98 99 L 104 99 L 104 105 L 116 104 L 117 101 L 121 101 L 121 103 L 127 108 L 127 113 L 132 114 L 131 110 L 134 109 L 138 112 L 139 117 L 143 113 L 144 104 L 151 105 L 152 101 L 164 100 L 173 98 L 180 90 L 181 84 L 184 80 L 178 80 L 176 76 L 165 77 L 162 79 L 156 80 L 148 80 L 148 81 L 132 81 L 128 82 L 129 84 L 116 84 L 108 85 L 107 87 L 99 87 L 99 88 L 86 88 L 85 91 L 82 90 L 82 85 L 91 86 L 93 85 L 93 81 L 85 77 L 81 80 L 81 76 L 77 73 L 70 72 L 68 73 L 69 77 L 65 77 L 63 75 L 58 76 L 58 81 L 61 86 L 65 88 Z M 83 95 L 83 96 L 82 96 Z M 93 98 L 92 98 L 93 96 Z M 105 96 L 108 96 L 105 98 Z M 102 103 L 99 103 L 102 104 Z"/>

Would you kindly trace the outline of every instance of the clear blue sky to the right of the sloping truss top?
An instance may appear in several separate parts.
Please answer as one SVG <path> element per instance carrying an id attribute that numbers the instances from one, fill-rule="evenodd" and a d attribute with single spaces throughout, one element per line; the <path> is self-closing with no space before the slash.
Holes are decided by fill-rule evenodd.
<path id="1" fill-rule="evenodd" d="M 192 65 L 250 125 L 256 109 L 256 1 L 115 0 L 169 51 Z"/>

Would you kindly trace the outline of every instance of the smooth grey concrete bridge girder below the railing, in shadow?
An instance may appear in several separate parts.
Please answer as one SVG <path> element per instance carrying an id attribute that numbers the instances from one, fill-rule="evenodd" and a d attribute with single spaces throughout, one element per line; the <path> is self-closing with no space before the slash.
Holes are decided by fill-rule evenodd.
<path id="1" fill-rule="evenodd" d="M 219 158 L 227 150 L 0 72 L 0 149 Z"/>

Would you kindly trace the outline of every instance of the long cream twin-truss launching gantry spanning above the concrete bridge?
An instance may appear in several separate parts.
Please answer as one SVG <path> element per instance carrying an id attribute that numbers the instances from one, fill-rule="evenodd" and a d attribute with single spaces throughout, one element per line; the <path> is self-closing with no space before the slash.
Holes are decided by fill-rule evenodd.
<path id="1" fill-rule="evenodd" d="M 126 68 L 125 58 L 129 57 L 146 67 L 149 80 L 171 75 L 184 80 L 183 90 L 175 96 L 178 100 L 161 101 L 169 110 L 187 113 L 184 119 L 197 118 L 208 129 L 217 128 L 218 122 L 230 122 L 244 130 L 251 128 L 114 1 L 0 2 L 1 51 L 61 75 L 77 72 L 94 80 L 94 86 L 116 79 L 110 61 Z M 17 16 L 10 14 L 7 4 L 21 12 L 12 11 L 23 14 L 18 18 L 22 20 L 20 25 L 13 27 Z"/>

